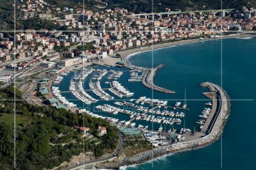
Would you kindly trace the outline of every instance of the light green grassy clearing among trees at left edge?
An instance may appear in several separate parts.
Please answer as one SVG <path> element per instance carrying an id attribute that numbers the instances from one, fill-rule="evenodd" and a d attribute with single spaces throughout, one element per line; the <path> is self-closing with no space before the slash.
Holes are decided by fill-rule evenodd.
<path id="1" fill-rule="evenodd" d="M 2 115 L 3 116 L 0 117 L 0 122 L 14 123 L 14 114 L 2 113 Z M 21 123 L 26 124 L 28 122 L 31 122 L 28 117 L 16 114 L 16 125 L 19 125 Z"/>

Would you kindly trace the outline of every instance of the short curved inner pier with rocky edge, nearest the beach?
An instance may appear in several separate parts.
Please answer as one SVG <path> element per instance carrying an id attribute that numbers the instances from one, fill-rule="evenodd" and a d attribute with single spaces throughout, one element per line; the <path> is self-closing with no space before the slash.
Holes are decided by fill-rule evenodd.
<path id="1" fill-rule="evenodd" d="M 157 70 L 162 68 L 163 66 L 164 66 L 163 64 L 160 64 L 156 68 L 145 71 L 143 79 L 142 79 L 142 84 L 144 86 L 146 86 L 147 88 L 150 88 L 150 89 L 153 89 L 156 91 L 160 91 L 160 92 L 164 92 L 164 93 L 175 93 L 175 91 L 159 87 L 159 86 L 155 85 L 153 82 L 153 79 L 154 79 L 154 76 L 156 75 Z"/>

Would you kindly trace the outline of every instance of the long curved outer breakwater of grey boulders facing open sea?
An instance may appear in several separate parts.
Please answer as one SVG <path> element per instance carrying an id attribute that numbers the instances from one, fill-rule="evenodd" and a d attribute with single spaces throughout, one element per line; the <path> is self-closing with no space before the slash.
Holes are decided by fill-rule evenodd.
<path id="1" fill-rule="evenodd" d="M 226 122 L 226 117 L 229 114 L 229 107 L 230 107 L 229 98 L 226 92 L 216 84 L 205 82 L 205 83 L 201 83 L 201 86 L 207 87 L 211 92 L 218 92 L 221 96 L 221 99 L 220 99 L 221 108 L 219 109 L 219 113 L 217 115 L 215 123 L 212 126 L 210 132 L 206 136 L 200 139 L 164 145 L 162 147 L 157 147 L 152 150 L 145 151 L 143 153 L 140 153 L 131 157 L 125 157 L 123 159 L 123 164 L 132 165 L 132 164 L 143 163 L 145 161 L 148 161 L 166 154 L 204 147 L 205 145 L 216 141 L 222 132 L 222 129 Z"/>

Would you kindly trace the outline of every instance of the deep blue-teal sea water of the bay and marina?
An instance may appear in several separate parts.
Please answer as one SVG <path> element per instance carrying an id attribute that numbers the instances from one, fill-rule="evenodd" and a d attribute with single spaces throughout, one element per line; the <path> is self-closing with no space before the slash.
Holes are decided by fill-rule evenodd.
<path id="1" fill-rule="evenodd" d="M 121 167 L 127 170 L 133 169 L 255 169 L 256 156 L 256 38 L 228 38 L 223 40 L 209 40 L 197 43 L 181 44 L 173 47 L 136 54 L 129 60 L 132 64 L 144 67 L 161 68 L 154 79 L 154 83 L 161 87 L 176 91 L 175 94 L 166 94 L 152 91 L 144 87 L 141 82 L 127 82 L 130 72 L 126 71 L 118 80 L 135 95 L 147 96 L 154 99 L 168 100 L 169 106 L 176 101 L 184 101 L 184 89 L 186 88 L 187 107 L 185 118 L 181 125 L 175 125 L 176 129 L 183 127 L 199 130 L 196 120 L 209 100 L 202 95 L 206 89 L 199 84 L 212 82 L 223 87 L 231 99 L 231 111 L 227 119 L 222 137 L 216 142 L 197 150 L 170 154 L 162 158 L 145 162 L 140 165 Z M 102 68 L 102 67 L 99 67 Z M 108 68 L 123 70 L 123 68 Z M 61 82 L 60 90 L 67 91 L 72 74 L 66 76 Z M 84 81 L 84 88 L 89 89 L 88 82 Z M 105 84 L 106 77 L 101 80 L 101 86 Z M 110 91 L 106 91 L 110 93 Z M 73 98 L 71 93 L 62 93 L 68 99 Z M 90 93 L 94 96 L 93 93 Z M 110 93 L 111 94 L 111 93 Z M 114 95 L 113 95 L 114 96 Z M 122 100 L 115 98 L 116 100 Z M 130 98 L 129 98 L 130 99 Z M 127 99 L 123 99 L 127 100 Z M 79 107 L 87 107 L 79 101 L 72 101 Z M 106 103 L 100 101 L 87 107 L 97 114 L 129 119 L 128 115 L 118 113 L 110 115 L 97 110 L 94 106 Z M 114 101 L 108 102 L 113 104 Z M 114 105 L 114 104 L 113 104 Z M 159 124 L 143 122 L 138 124 L 148 125 L 151 129 L 158 129 Z M 166 131 L 170 127 L 164 127 Z"/>

